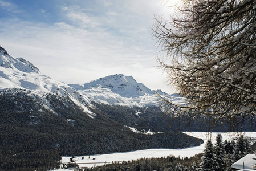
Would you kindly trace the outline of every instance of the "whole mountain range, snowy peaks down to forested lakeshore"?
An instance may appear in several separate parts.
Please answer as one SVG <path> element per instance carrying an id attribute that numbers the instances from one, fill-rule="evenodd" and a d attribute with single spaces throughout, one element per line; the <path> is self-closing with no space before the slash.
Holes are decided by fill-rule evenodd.
<path id="1" fill-rule="evenodd" d="M 0 170 L 50 170 L 60 155 L 200 145 L 170 132 L 158 100 L 123 74 L 82 85 L 52 80 L 0 47 Z"/>

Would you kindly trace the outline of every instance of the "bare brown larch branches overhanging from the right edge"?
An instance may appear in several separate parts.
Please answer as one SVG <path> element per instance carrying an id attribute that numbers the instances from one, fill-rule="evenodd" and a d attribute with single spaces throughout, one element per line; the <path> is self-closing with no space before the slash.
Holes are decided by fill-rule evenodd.
<path id="1" fill-rule="evenodd" d="M 255 0 L 185 0 L 169 21 L 156 17 L 152 30 L 164 55 L 160 67 L 188 100 L 162 98 L 168 115 L 233 130 L 255 125 Z"/>

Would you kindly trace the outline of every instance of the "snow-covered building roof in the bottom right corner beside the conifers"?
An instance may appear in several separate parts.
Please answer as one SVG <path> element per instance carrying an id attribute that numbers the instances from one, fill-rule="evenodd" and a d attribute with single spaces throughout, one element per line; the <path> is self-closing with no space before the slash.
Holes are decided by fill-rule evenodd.
<path id="1" fill-rule="evenodd" d="M 233 170 L 249 171 L 249 170 L 253 170 L 253 168 L 255 168 L 255 165 L 256 165 L 256 155 L 247 154 L 245 157 L 234 162 L 234 164 L 231 165 L 231 168 Z"/>

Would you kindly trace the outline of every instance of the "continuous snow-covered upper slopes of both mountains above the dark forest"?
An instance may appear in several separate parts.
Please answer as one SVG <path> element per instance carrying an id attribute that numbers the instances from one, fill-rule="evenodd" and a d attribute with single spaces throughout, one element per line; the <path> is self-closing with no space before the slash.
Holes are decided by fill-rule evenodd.
<path id="1" fill-rule="evenodd" d="M 37 67 L 23 58 L 14 58 L 0 46 L 0 90 L 6 88 L 29 89 L 33 92 L 57 93 L 69 97 L 87 111 L 90 101 L 97 103 L 151 106 L 158 105 L 159 96 L 132 76 L 116 74 L 85 84 L 65 84 L 42 74 Z M 157 92 L 164 97 L 166 93 Z M 169 96 L 171 97 L 171 96 Z M 176 99 L 178 99 L 176 97 Z"/>

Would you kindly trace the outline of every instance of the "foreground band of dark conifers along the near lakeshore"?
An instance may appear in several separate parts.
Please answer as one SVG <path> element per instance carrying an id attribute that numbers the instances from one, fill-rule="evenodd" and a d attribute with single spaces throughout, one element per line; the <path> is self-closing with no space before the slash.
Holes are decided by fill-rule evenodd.
<path id="1" fill-rule="evenodd" d="M 112 162 L 103 166 L 94 168 L 80 168 L 80 170 L 122 170 L 122 171 L 139 171 L 139 170 L 173 170 L 173 171 L 224 171 L 231 170 L 231 164 L 246 154 L 253 153 L 250 141 L 243 136 L 239 136 L 237 141 L 222 141 L 220 134 L 216 137 L 216 143 L 212 144 L 207 141 L 203 153 L 193 157 L 161 157 L 161 158 L 141 158 L 140 160 Z"/>

